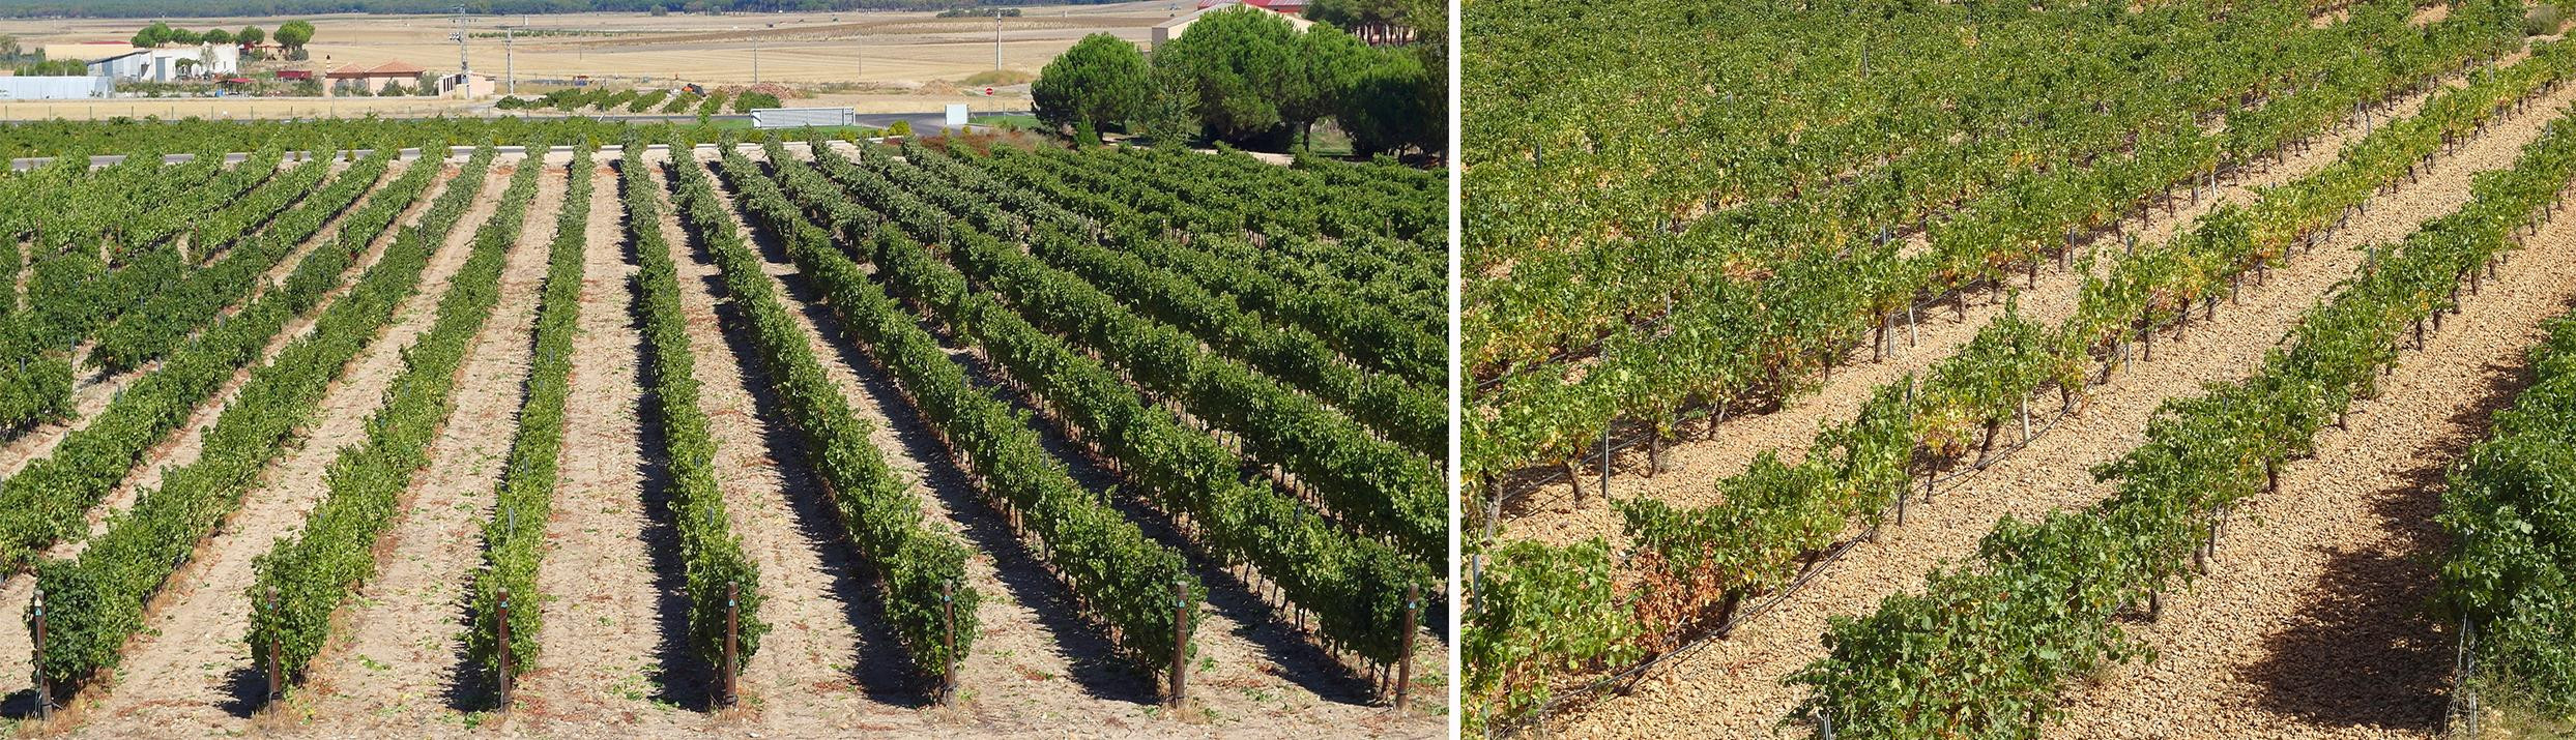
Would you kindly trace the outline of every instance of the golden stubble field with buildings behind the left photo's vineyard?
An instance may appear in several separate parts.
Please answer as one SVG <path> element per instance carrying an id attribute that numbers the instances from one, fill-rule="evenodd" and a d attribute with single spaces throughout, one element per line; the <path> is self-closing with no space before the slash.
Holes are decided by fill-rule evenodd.
<path id="1" fill-rule="evenodd" d="M 1023 18 L 1002 18 L 1002 70 L 1033 75 L 1087 34 L 1113 34 L 1146 44 L 1154 23 L 1195 10 L 1195 0 L 1154 0 L 1118 5 L 1025 8 Z M 185 18 L 185 28 L 276 31 L 304 18 L 317 34 L 312 62 L 258 62 L 252 70 L 358 64 L 389 59 L 430 72 L 456 70 L 456 26 L 448 15 L 270 15 L 270 18 Z M 121 41 L 147 21 L 137 18 L 0 18 L 0 34 L 21 46 L 82 41 Z M 505 54 L 502 26 L 518 26 Z M 984 95 L 963 80 L 994 70 L 992 18 L 935 18 L 925 10 L 845 10 L 845 13 L 739 13 L 739 15 L 647 15 L 647 13 L 567 13 L 567 15 L 466 15 L 466 62 L 495 75 L 515 72 L 520 93 L 544 93 L 587 75 L 605 85 L 744 85 L 786 83 L 811 90 L 796 106 L 853 106 L 860 113 L 938 111 L 966 103 L 971 111 L 1028 111 L 1028 88 L 1005 85 Z M 507 57 L 507 59 L 505 59 Z M 363 116 L 368 111 L 438 113 L 484 111 L 489 101 L 435 98 L 116 98 L 116 101 L 10 101 L 0 119 L 93 119 L 93 116 Z"/>

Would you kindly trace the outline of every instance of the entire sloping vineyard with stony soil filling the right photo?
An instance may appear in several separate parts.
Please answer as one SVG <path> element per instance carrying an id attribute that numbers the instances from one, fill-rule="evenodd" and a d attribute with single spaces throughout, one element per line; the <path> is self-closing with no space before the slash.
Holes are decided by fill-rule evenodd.
<path id="1" fill-rule="evenodd" d="M 2519 3 L 1512 5 L 1463 39 L 1471 735 L 2563 727 L 2576 46 Z M 1806 57 L 1680 83 L 1710 134 L 1646 162 L 1556 126 L 1674 80 L 1533 77 L 1595 36 Z"/>

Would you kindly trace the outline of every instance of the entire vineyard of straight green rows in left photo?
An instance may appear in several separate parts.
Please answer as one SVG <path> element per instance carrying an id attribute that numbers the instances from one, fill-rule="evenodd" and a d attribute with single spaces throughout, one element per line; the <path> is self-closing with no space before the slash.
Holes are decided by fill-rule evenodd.
<path id="1" fill-rule="evenodd" d="M 1432 173 L 513 126 L 0 178 L 0 730 L 1445 732 Z"/>

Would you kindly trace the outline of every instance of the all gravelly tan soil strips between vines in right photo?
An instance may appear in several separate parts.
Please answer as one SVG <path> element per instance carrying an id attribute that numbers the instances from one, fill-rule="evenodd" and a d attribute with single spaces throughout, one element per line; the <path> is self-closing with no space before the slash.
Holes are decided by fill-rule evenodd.
<path id="1" fill-rule="evenodd" d="M 2421 98 L 2396 101 L 2396 116 Z M 2365 242 L 2393 242 L 2429 217 L 2458 209 L 2481 170 L 2512 165 L 2522 144 L 2576 103 L 2576 88 L 2543 95 L 2522 113 L 2506 113 L 2414 183 L 2378 196 L 2367 214 L 2336 229 L 2316 253 L 2298 255 L 2269 281 L 2249 281 L 2239 304 L 2223 304 L 2210 322 L 2195 320 L 2179 338 L 2166 333 L 2148 364 L 2136 364 L 2092 389 L 2081 413 L 2061 420 L 1991 469 L 1945 485 L 1932 505 L 1917 505 L 1909 523 L 1888 529 L 1824 570 L 1777 611 L 1744 624 L 1708 650 L 1656 668 L 1628 696 L 1610 696 L 1548 722 L 1569 737 L 1664 737 L 1672 732 L 1718 737 L 1801 737 L 1783 727 L 1801 688 L 1780 686 L 1790 670 L 1824 655 L 1819 634 L 1829 616 L 1857 616 L 1880 598 L 1922 588 L 1940 562 L 1973 557 L 1976 541 L 2002 516 L 2035 518 L 2079 508 L 2110 492 L 2087 472 L 2138 441 L 2154 407 L 2192 394 L 2200 382 L 2244 374 L 2298 320 L 2362 260 Z M 2249 186 L 2298 178 L 2329 162 L 2357 139 L 2344 129 L 2308 152 L 2228 183 L 2218 201 L 2246 201 Z M 2130 229 L 2159 237 L 2205 211 L 2166 217 L 2161 209 Z M 2576 297 L 2566 278 L 2571 227 L 2532 237 L 2517 258 L 2465 307 L 2429 348 L 2411 353 L 2380 402 L 2362 405 L 2352 431 L 2329 433 L 2321 454 L 2285 474 L 2282 492 L 2251 505 L 2223 549 L 2223 572 L 2197 593 L 2169 598 L 2161 624 L 2143 627 L 2161 660 L 2130 663 L 2069 699 L 2071 717 L 2050 735 L 2066 737 L 2421 737 L 2437 730 L 2447 676 L 2450 634 L 2416 606 L 2429 583 L 2427 562 L 2439 552 L 2429 526 L 2437 472 L 2450 454 L 2483 433 L 2486 410 L 2519 387 L 2519 353 L 2543 317 Z M 2071 312 L 2076 276 L 2045 273 L 2020 297 L 2025 315 L 2053 322 Z M 1754 451 L 1783 449 L 1801 456 L 1819 423 L 1850 418 L 1865 389 L 1901 371 L 1929 366 L 1973 335 L 1999 307 L 1978 304 L 1965 320 L 1947 309 L 1924 325 L 1924 343 L 1896 358 L 1860 364 L 1834 376 L 1824 394 L 1798 400 L 1775 415 L 1734 420 L 1718 441 L 1667 451 L 1654 480 L 1636 472 L 1643 454 L 1623 459 L 1618 495 L 1654 495 L 1680 503 L 1713 500 L 1710 480 L 1741 469 Z M 1862 356 L 1868 358 L 1868 356 Z M 2375 418 L 2375 420 L 2372 420 Z M 2009 441 L 2009 438 L 2007 438 Z M 1587 485 L 1582 505 L 1564 487 L 1543 490 L 1533 508 L 1507 526 L 1512 536 L 1569 541 L 1615 536 L 1600 495 Z M 2187 603 L 2177 609 L 2177 603 Z M 1682 730 L 1690 727 L 1690 730 Z"/>

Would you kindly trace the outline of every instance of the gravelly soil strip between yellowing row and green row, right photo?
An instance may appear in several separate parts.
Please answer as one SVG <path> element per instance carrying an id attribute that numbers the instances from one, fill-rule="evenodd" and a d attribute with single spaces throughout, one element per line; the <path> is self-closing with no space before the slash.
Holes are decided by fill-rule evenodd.
<path id="1" fill-rule="evenodd" d="M 2269 284 L 2246 284 L 2244 304 L 2223 307 L 2213 322 L 2192 322 L 2182 340 L 2156 343 L 2156 358 L 2136 364 L 2092 389 L 2081 415 L 2058 423 L 2032 449 L 1999 462 L 1984 474 L 1940 492 L 1935 505 L 1917 505 L 1909 526 L 1883 531 L 1878 544 L 1852 552 L 1844 562 L 1798 593 L 1777 611 L 1741 627 L 1731 639 L 1710 645 L 1656 670 L 1633 696 L 1613 696 L 1553 719 L 1551 730 L 1574 737 L 1643 737 L 1677 732 L 1762 735 L 1801 699 L 1780 678 L 1819 657 L 1826 616 L 1868 614 L 1901 588 L 1919 588 L 1937 562 L 1973 554 L 1976 541 L 2002 516 L 2032 518 L 2056 508 L 2099 500 L 2110 487 L 2092 480 L 2092 464 L 2107 462 L 2143 438 L 2146 418 L 2169 397 L 2197 392 L 2205 379 L 2239 376 L 2298 320 L 2298 312 L 2349 276 L 2362 242 L 2388 242 L 2414 232 L 2429 217 L 2458 209 L 2468 199 L 2473 173 L 2512 165 L 2514 155 L 2555 116 L 2555 106 L 2576 101 L 2576 88 L 2558 90 L 2522 113 L 2501 116 L 2455 155 L 2439 157 L 2419 183 L 2401 186 L 2352 217 L 2316 253 L 2290 268 L 2272 271 Z"/>

